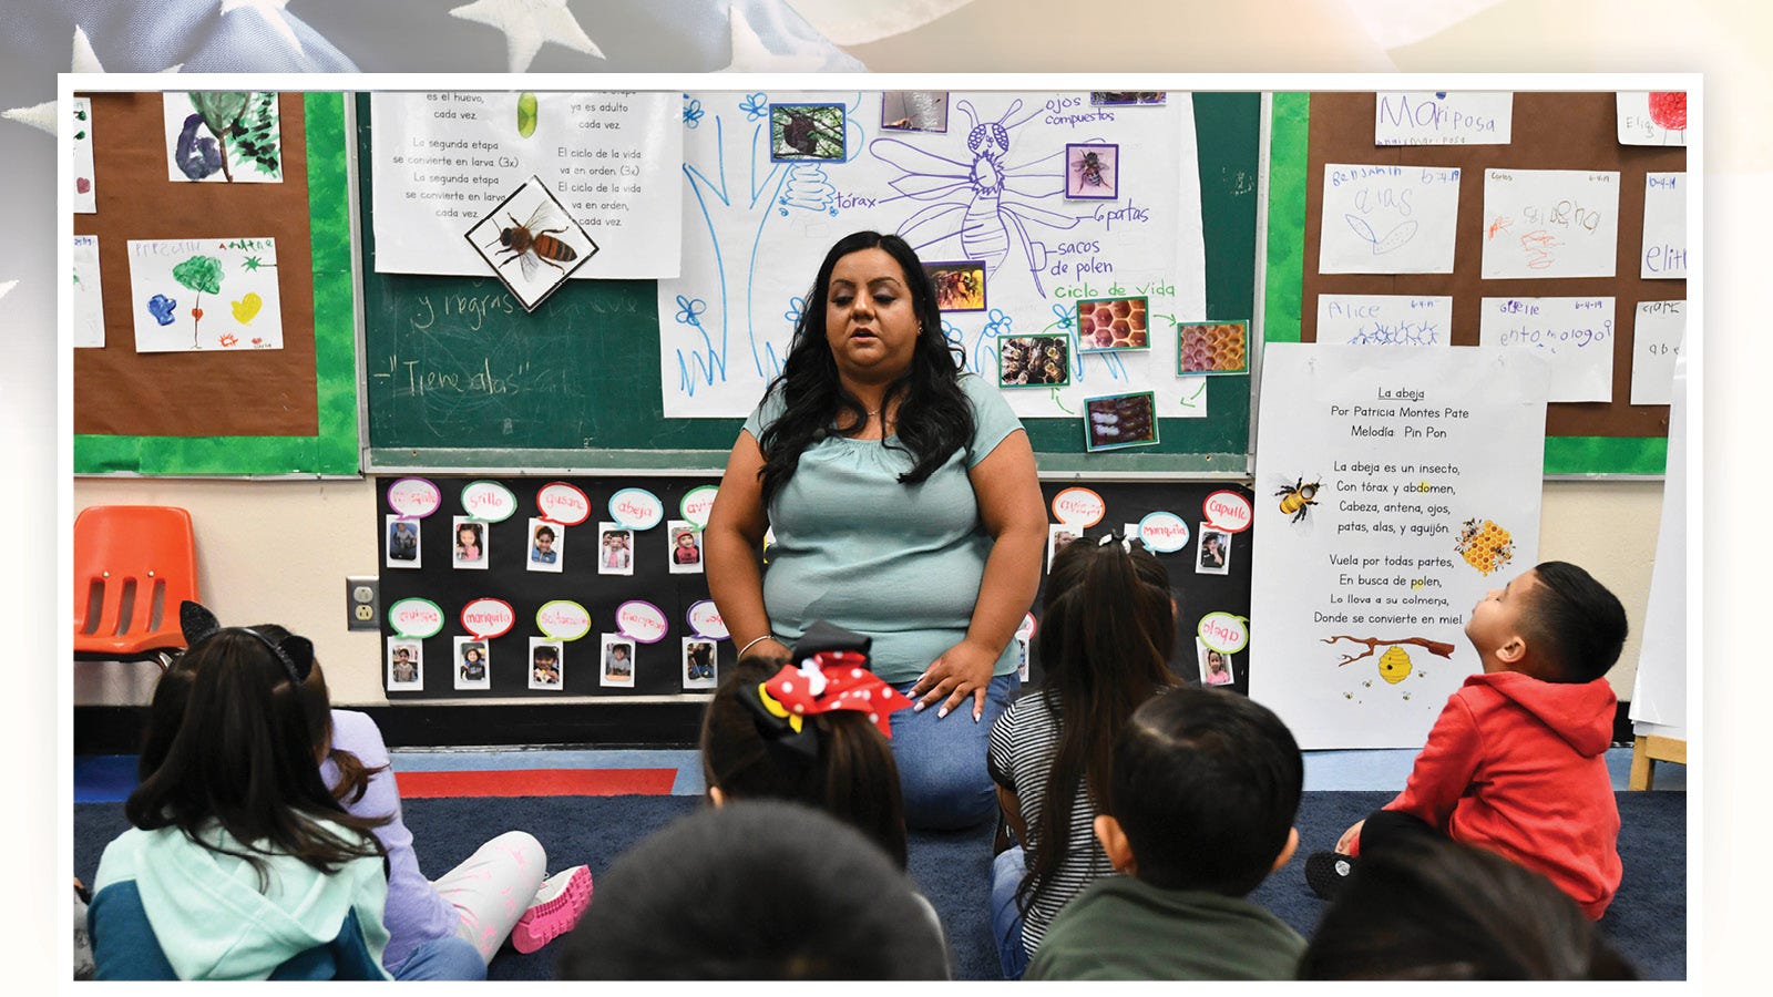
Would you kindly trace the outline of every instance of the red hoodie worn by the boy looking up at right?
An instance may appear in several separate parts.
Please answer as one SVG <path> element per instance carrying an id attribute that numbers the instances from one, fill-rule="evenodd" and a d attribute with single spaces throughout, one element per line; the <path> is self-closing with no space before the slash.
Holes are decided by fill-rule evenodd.
<path id="1" fill-rule="evenodd" d="M 1475 674 L 1441 710 L 1388 811 L 1544 873 L 1589 917 L 1619 891 L 1619 804 L 1605 752 L 1613 688 Z"/>

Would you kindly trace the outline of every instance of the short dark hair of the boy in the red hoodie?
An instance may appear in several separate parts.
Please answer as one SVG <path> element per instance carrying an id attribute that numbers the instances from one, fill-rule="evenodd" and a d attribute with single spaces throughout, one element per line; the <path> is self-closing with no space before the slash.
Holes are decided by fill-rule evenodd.
<path id="1" fill-rule="evenodd" d="M 1530 612 L 1519 621 L 1527 646 L 1543 649 L 1562 681 L 1605 676 L 1626 646 L 1626 607 L 1619 596 L 1567 561 L 1541 562 L 1534 575 L 1539 584 Z"/>

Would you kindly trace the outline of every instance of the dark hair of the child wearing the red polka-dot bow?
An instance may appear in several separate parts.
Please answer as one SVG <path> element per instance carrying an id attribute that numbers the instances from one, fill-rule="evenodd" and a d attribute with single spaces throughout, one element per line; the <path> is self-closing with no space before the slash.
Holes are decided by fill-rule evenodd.
<path id="1" fill-rule="evenodd" d="M 817 807 L 855 827 L 906 867 L 899 766 L 879 729 L 862 713 L 833 710 L 805 722 L 819 733 L 819 758 L 778 747 L 757 726 L 739 690 L 773 678 L 787 662 L 748 655 L 722 679 L 702 715 L 702 775 L 732 800 L 777 798 Z"/>

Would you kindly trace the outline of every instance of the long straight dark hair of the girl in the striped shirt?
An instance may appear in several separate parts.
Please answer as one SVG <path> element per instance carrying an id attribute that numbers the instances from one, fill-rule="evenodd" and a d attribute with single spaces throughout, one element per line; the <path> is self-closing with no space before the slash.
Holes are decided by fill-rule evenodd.
<path id="1" fill-rule="evenodd" d="M 1097 807 L 1115 738 L 1140 703 L 1175 685 L 1170 573 L 1144 545 L 1078 539 L 1053 555 L 1035 633 L 1046 679 L 1035 695 L 1060 718 L 1046 805 L 1028 837 L 1021 910 L 1051 889 L 1071 848 L 1071 800 L 1087 786 Z"/>

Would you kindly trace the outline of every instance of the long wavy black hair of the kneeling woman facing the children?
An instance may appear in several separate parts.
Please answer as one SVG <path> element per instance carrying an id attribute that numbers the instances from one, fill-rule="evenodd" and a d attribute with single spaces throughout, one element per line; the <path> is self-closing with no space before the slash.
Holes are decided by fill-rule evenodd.
<path id="1" fill-rule="evenodd" d="M 924 273 L 917 250 L 894 234 L 853 232 L 824 254 L 819 275 L 814 277 L 812 289 L 807 291 L 807 305 L 794 323 L 794 341 L 782 364 L 782 374 L 764 392 L 766 397 L 769 392 L 782 392 L 785 404 L 782 417 L 769 424 L 757 440 L 757 449 L 764 454 L 764 467 L 757 472 L 762 481 L 764 506 L 794 477 L 800 454 L 807 447 L 824 438 L 826 433 L 855 433 L 867 424 L 867 408 L 837 380 L 837 360 L 824 337 L 832 270 L 840 257 L 867 248 L 885 250 L 904 270 L 904 284 L 911 293 L 911 307 L 918 323 L 911 369 L 890 383 L 881 397 L 883 410 L 894 399 L 899 401 L 897 436 L 888 436 L 881 444 L 904 451 L 913 461 L 911 470 L 899 475 L 899 481 L 902 484 L 926 481 L 947 463 L 954 451 L 968 445 L 973 438 L 973 410 L 966 403 L 959 381 L 963 353 L 941 334 L 936 287 Z"/>

